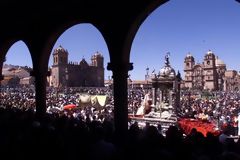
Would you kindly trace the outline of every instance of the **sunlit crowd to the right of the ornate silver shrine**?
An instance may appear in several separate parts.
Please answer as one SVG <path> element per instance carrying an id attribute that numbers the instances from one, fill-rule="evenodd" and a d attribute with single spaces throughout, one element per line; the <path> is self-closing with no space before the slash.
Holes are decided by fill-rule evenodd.
<path id="1" fill-rule="evenodd" d="M 240 92 L 215 92 L 211 97 L 187 93 L 181 98 L 181 117 L 211 121 L 219 129 L 230 126 L 231 135 L 239 135 Z"/>

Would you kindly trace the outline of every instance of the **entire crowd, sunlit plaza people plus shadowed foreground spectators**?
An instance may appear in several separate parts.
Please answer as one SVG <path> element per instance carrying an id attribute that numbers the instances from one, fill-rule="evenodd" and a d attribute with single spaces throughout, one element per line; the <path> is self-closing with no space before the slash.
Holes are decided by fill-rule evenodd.
<path id="1" fill-rule="evenodd" d="M 107 94 L 105 108 L 80 107 L 79 93 Z M 130 90 L 129 112 L 141 105 L 144 90 Z M 165 136 L 161 125 L 129 123 L 127 140 L 118 145 L 113 125 L 114 101 L 109 88 L 48 88 L 47 113 L 44 120 L 35 117 L 33 88 L 2 88 L 0 94 L 0 148 L 10 159 L 240 159 L 240 141 L 229 138 L 229 130 L 221 135 L 203 135 L 196 129 L 184 136 L 177 126 L 170 126 Z M 64 110 L 73 103 L 78 107 Z M 216 93 L 212 98 L 183 94 L 179 116 L 232 123 L 239 113 L 239 93 Z M 37 148 L 39 148 L 37 150 Z"/>

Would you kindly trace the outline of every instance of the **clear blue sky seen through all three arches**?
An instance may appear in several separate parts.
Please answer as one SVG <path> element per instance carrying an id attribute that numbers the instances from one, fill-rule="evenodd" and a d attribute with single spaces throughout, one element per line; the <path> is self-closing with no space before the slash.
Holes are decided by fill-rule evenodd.
<path id="1" fill-rule="evenodd" d="M 79 24 L 66 30 L 54 48 L 62 45 L 69 51 L 69 60 L 90 62 L 96 51 L 105 61 L 105 78 L 109 53 L 100 32 L 92 25 Z M 132 79 L 143 80 L 146 68 L 158 72 L 164 56 L 170 52 L 170 63 L 183 75 L 184 57 L 190 52 L 202 62 L 208 50 L 222 59 L 228 69 L 240 69 L 240 4 L 235 0 L 170 0 L 157 8 L 144 21 L 131 48 L 134 70 Z M 7 54 L 8 64 L 32 66 L 29 51 L 23 42 L 15 43 Z M 52 64 L 52 56 L 49 65 Z"/>

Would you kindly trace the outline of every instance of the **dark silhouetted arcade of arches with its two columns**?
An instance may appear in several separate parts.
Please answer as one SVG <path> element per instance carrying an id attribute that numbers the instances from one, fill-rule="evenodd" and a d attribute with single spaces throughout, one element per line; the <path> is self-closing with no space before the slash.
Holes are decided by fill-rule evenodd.
<path id="1" fill-rule="evenodd" d="M 120 138 L 127 131 L 127 72 L 132 69 L 129 63 L 132 40 L 144 19 L 166 0 L 149 1 L 78 1 L 59 3 L 4 3 L 0 12 L 2 41 L 9 37 L 22 37 L 29 48 L 33 61 L 33 75 L 36 78 L 36 107 L 40 115 L 46 108 L 46 82 L 48 61 L 52 48 L 64 28 L 72 24 L 91 23 L 103 35 L 110 54 L 109 69 L 115 74 L 114 97 L 116 114 L 115 127 Z M 109 7 L 111 6 L 111 7 Z M 44 10 L 42 9 L 44 8 Z M 66 10 L 66 8 L 68 8 Z M 17 13 L 10 16 L 7 13 Z M 31 13 L 31 14 L 29 14 Z M 120 29 L 119 29 L 120 28 Z"/>

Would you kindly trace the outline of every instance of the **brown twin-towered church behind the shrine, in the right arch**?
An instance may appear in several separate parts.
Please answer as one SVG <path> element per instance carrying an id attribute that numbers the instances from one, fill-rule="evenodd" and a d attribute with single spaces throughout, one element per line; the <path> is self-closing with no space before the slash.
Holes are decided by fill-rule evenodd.
<path id="1" fill-rule="evenodd" d="M 202 63 L 195 63 L 188 53 L 184 60 L 184 87 L 191 89 L 223 90 L 226 65 L 209 50 Z"/>

